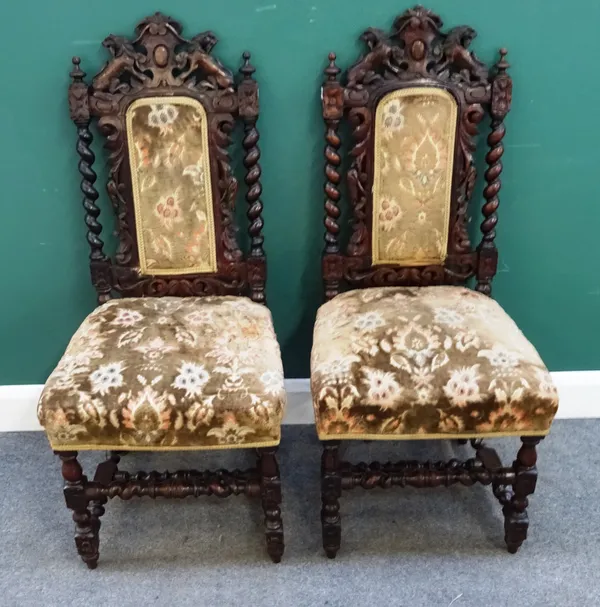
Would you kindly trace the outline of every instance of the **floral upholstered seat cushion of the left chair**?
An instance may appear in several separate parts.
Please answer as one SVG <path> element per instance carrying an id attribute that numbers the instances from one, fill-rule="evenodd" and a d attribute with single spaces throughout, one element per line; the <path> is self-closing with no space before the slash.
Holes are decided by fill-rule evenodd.
<path id="1" fill-rule="evenodd" d="M 245 297 L 111 300 L 73 336 L 38 417 L 56 450 L 279 443 L 283 368 L 269 310 Z"/>

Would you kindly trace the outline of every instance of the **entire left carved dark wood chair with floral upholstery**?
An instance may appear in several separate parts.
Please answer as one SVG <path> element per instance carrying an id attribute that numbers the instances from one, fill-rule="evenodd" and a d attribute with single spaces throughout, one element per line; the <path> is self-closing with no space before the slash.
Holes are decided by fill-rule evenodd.
<path id="1" fill-rule="evenodd" d="M 248 53 L 236 84 L 211 55 L 212 32 L 187 40 L 181 31 L 157 13 L 138 24 L 133 40 L 109 36 L 104 46 L 112 56 L 91 85 L 73 58 L 69 105 L 100 306 L 48 379 L 38 414 L 62 460 L 77 550 L 90 568 L 113 497 L 260 497 L 273 561 L 284 549 L 276 449 L 285 392 L 264 305 L 258 88 Z M 92 118 L 110 153 L 114 259 L 100 239 Z M 248 255 L 236 240 L 237 182 L 228 155 L 238 119 Z M 257 466 L 136 474 L 118 467 L 128 451 L 234 448 L 256 448 Z M 77 461 L 82 450 L 109 451 L 92 480 Z"/>

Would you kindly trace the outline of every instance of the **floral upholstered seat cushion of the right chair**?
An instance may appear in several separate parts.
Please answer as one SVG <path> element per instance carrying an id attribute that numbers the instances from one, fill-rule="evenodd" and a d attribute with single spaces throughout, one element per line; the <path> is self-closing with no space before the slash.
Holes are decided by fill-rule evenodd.
<path id="1" fill-rule="evenodd" d="M 321 306 L 311 390 L 322 439 L 544 435 L 558 408 L 512 319 L 462 287 L 359 289 Z"/>

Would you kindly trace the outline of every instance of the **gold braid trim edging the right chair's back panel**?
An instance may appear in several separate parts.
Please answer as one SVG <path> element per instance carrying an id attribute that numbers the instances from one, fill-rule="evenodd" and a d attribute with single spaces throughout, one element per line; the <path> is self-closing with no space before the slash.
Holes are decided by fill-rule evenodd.
<path id="1" fill-rule="evenodd" d="M 385 180 L 383 167 L 387 167 L 391 162 L 390 158 L 384 158 L 384 150 L 382 149 L 382 137 L 383 133 L 386 129 L 384 125 L 384 115 L 385 110 L 388 107 L 390 102 L 395 100 L 402 100 L 408 97 L 440 97 L 451 101 L 449 106 L 449 118 L 444 125 L 444 145 L 447 146 L 447 160 L 446 166 L 444 167 L 444 191 L 443 198 L 440 196 L 440 200 L 443 199 L 445 206 L 443 210 L 443 226 L 442 232 L 440 234 L 439 244 L 440 244 L 440 255 L 436 256 L 419 256 L 414 257 L 411 256 L 411 253 L 414 255 L 414 251 L 409 252 L 407 256 L 398 257 L 392 255 L 381 255 L 380 246 L 381 246 L 381 231 L 384 229 L 380 223 L 380 203 L 383 199 L 383 183 Z M 400 107 L 401 110 L 401 107 Z M 373 265 L 377 264 L 401 264 L 403 266 L 424 266 L 430 264 L 441 264 L 444 262 L 447 256 L 447 248 L 448 248 L 448 234 L 450 229 L 450 207 L 451 207 L 451 196 L 452 196 L 452 174 L 454 169 L 454 148 L 456 142 L 456 124 L 457 124 L 457 103 L 455 98 L 451 93 L 446 91 L 445 89 L 435 88 L 435 87 L 413 87 L 413 88 L 404 88 L 392 91 L 382 97 L 379 103 L 377 104 L 377 110 L 375 113 L 375 136 L 374 136 L 374 168 L 373 168 L 373 190 L 372 190 L 372 234 L 371 234 L 371 254 L 372 254 L 372 263 Z M 424 121 L 423 121 L 424 124 Z M 408 125 L 410 126 L 410 125 Z M 408 130 L 408 129 L 404 129 Z M 404 144 L 406 145 L 406 144 Z M 396 159 L 397 160 L 397 159 Z M 392 179 L 394 179 L 392 177 Z M 401 205 L 400 205 L 401 206 Z M 396 214 L 398 214 L 399 209 L 396 209 Z M 412 226 L 409 222 L 404 221 L 400 218 L 398 221 L 398 226 L 402 227 L 402 232 L 407 234 L 410 232 Z M 389 229 L 389 228 L 388 228 Z M 423 228 L 420 228 L 421 230 Z"/>

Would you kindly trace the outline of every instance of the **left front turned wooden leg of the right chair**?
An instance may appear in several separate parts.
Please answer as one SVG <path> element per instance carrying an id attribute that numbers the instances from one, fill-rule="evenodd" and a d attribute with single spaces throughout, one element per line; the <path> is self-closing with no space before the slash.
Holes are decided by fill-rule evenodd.
<path id="1" fill-rule="evenodd" d="M 321 525 L 323 548 L 328 558 L 334 559 L 342 539 L 340 497 L 342 477 L 340 474 L 339 441 L 323 443 L 321 456 Z"/>

